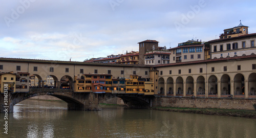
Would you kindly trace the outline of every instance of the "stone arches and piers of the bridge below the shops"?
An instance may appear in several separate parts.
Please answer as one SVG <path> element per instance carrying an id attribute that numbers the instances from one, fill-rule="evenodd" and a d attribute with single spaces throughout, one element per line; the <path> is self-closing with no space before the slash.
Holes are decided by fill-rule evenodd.
<path id="1" fill-rule="evenodd" d="M 30 88 L 29 93 L 8 92 L 8 112 L 13 112 L 13 106 L 21 101 L 35 96 L 50 95 L 68 103 L 68 110 L 98 110 L 100 98 L 121 98 L 127 107 L 148 108 L 151 107 L 154 96 L 135 94 L 96 94 L 96 93 L 74 93 L 72 89 L 60 88 Z M 5 112 L 4 94 L 0 97 L 0 111 Z"/>

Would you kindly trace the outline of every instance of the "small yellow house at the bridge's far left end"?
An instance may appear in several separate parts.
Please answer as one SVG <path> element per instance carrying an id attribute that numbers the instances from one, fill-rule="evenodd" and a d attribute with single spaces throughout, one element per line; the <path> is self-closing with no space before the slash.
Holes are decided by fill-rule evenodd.
<path id="1" fill-rule="evenodd" d="M 15 81 L 16 81 L 16 75 L 13 74 L 13 72 L 1 73 L 0 74 L 1 93 L 4 93 L 5 86 L 8 87 L 8 91 L 15 93 L 16 91 Z"/>

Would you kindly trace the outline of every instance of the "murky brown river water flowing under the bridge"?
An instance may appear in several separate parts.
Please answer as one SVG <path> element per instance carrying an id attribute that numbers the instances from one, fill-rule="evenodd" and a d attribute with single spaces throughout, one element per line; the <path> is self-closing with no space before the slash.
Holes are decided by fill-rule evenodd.
<path id="1" fill-rule="evenodd" d="M 67 104 L 25 100 L 14 106 L 0 137 L 256 137 L 256 120 L 101 106 L 69 111 Z"/>

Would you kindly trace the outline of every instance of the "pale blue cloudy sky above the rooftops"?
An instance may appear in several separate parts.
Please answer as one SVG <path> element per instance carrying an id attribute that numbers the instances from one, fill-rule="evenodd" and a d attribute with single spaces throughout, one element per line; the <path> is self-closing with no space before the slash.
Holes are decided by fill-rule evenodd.
<path id="1" fill-rule="evenodd" d="M 0 0 L 0 57 L 83 61 L 219 37 L 240 24 L 256 33 L 256 1 Z"/>

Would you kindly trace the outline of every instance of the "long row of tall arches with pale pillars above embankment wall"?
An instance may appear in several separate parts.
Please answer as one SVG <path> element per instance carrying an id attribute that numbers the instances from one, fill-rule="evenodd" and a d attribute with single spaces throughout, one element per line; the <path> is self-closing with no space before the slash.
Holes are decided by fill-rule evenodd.
<path id="1" fill-rule="evenodd" d="M 232 77 L 234 76 L 234 77 Z M 256 73 L 206 76 L 166 76 L 158 81 L 158 94 L 183 97 L 256 98 Z M 207 81 L 206 81 L 207 80 Z"/>

